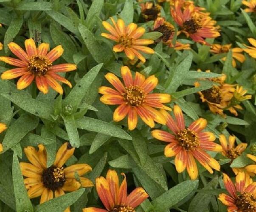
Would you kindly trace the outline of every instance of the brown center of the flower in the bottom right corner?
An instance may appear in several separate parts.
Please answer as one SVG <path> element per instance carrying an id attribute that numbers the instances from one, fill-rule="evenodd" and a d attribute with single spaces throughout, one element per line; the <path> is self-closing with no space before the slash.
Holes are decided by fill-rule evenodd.
<path id="1" fill-rule="evenodd" d="M 236 206 L 238 211 L 255 212 L 256 197 L 251 193 L 244 192 L 237 197 Z"/>

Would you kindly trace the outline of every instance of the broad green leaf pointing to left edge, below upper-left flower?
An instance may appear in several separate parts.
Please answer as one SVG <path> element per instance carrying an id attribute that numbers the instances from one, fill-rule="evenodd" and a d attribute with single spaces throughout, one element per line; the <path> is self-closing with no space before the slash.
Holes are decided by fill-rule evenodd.
<path id="1" fill-rule="evenodd" d="M 51 113 L 53 112 L 53 107 L 48 103 L 32 99 L 25 92 L 8 92 L 2 93 L 1 95 L 11 100 L 26 112 L 47 120 L 52 120 Z"/>

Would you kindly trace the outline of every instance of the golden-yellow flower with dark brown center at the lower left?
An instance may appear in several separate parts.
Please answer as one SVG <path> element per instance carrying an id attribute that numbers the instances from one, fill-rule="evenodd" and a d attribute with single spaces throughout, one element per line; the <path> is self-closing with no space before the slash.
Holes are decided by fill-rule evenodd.
<path id="1" fill-rule="evenodd" d="M 65 162 L 73 155 L 75 148 L 70 143 L 64 143 L 56 153 L 56 158 L 52 166 L 47 167 L 47 153 L 44 145 L 38 145 L 39 150 L 32 146 L 24 149 L 30 163 L 21 162 L 20 167 L 24 179 L 24 184 L 28 190 L 29 198 L 41 196 L 40 204 L 54 197 L 64 195 L 64 192 L 72 192 L 80 187 L 92 187 L 93 183 L 82 177 L 92 168 L 87 164 L 76 164 L 65 167 Z M 78 173 L 80 182 L 75 179 Z M 70 211 L 66 209 L 65 212 Z"/>

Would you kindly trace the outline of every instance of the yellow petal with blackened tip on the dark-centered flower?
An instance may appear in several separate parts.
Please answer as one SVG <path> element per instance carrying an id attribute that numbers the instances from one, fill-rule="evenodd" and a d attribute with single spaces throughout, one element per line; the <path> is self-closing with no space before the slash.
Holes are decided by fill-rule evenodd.
<path id="1" fill-rule="evenodd" d="M 53 165 L 62 167 L 65 162 L 73 155 L 75 148 L 72 148 L 70 143 L 64 143 L 56 153 L 56 158 Z"/>

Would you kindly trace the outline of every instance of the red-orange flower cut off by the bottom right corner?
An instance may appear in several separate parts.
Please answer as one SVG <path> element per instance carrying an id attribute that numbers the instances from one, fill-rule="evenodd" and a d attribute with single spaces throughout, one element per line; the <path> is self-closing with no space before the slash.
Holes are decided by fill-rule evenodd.
<path id="1" fill-rule="evenodd" d="M 240 172 L 233 184 L 228 175 L 223 173 L 223 181 L 228 194 L 219 195 L 219 200 L 228 206 L 228 212 L 256 211 L 256 182 Z"/>

